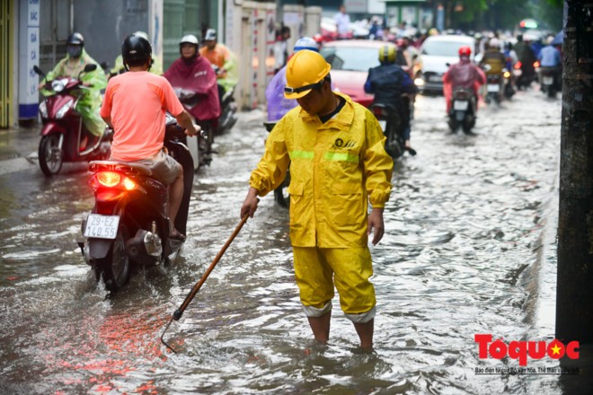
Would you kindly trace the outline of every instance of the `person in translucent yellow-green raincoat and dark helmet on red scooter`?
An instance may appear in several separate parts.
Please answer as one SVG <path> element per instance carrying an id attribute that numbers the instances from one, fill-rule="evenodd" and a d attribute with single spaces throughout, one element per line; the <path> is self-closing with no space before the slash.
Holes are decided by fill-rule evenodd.
<path id="1" fill-rule="evenodd" d="M 66 40 L 66 57 L 58 62 L 52 71 L 39 85 L 40 92 L 48 95 L 50 92 L 43 89 L 46 82 L 52 81 L 61 76 L 78 78 L 86 65 L 97 65 L 97 68 L 89 73 L 80 75 L 83 85 L 89 89 L 81 92 L 81 98 L 76 103 L 75 110 L 78 111 L 84 122 L 84 126 L 89 131 L 90 136 L 83 140 L 81 149 L 93 145 L 105 130 L 105 122 L 99 116 L 101 107 L 101 90 L 107 86 L 107 77 L 99 63 L 93 57 L 90 57 L 84 49 L 84 37 L 79 32 L 74 32 Z"/>

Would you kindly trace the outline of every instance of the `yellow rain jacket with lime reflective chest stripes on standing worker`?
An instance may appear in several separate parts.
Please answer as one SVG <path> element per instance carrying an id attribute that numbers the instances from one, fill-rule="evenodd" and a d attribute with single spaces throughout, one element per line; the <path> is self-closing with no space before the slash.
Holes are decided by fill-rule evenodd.
<path id="1" fill-rule="evenodd" d="M 290 241 L 296 247 L 367 246 L 368 201 L 384 207 L 391 192 L 394 161 L 375 116 L 335 94 L 346 103 L 324 124 L 300 106 L 279 120 L 249 181 L 265 196 L 290 164 Z"/>

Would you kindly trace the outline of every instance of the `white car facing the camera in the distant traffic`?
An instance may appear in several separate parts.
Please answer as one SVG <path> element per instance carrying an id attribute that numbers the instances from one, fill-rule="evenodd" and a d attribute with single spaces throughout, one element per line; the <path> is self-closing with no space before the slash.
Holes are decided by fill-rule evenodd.
<path id="1" fill-rule="evenodd" d="M 459 61 L 459 48 L 472 48 L 474 56 L 474 38 L 461 35 L 429 36 L 420 46 L 422 65 L 414 83 L 420 92 L 443 92 L 443 75 L 450 65 Z"/>

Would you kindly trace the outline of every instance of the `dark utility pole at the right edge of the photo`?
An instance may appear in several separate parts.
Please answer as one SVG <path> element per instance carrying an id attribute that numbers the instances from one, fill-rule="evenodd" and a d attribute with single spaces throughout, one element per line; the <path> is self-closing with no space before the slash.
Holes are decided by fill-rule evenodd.
<path id="1" fill-rule="evenodd" d="M 593 0 L 565 0 L 556 338 L 593 343 Z"/>

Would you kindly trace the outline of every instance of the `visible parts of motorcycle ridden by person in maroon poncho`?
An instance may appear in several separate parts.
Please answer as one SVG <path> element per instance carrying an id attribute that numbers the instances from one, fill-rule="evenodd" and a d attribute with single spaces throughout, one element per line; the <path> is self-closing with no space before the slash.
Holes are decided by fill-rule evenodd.
<path id="1" fill-rule="evenodd" d="M 203 99 L 200 97 L 203 95 L 187 89 L 173 87 L 173 91 L 175 91 L 177 98 L 188 112 L 196 105 L 199 105 L 199 101 Z M 191 157 L 193 158 L 195 171 L 198 170 L 199 166 L 205 166 L 212 162 L 212 154 L 214 153 L 212 151 L 212 145 L 214 144 L 215 121 L 211 119 L 194 120 L 202 129 L 197 139 L 188 140 L 188 148 L 190 149 Z"/>

